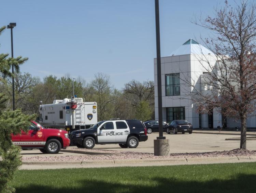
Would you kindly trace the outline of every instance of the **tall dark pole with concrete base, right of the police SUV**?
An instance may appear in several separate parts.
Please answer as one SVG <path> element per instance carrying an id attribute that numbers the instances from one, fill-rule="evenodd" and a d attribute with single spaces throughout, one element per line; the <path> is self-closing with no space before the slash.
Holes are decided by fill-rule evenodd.
<path id="1" fill-rule="evenodd" d="M 156 61 L 157 61 L 157 93 L 158 93 L 158 122 L 159 137 L 154 140 L 154 155 L 166 156 L 169 154 L 169 139 L 163 137 L 162 118 L 162 81 L 161 81 L 161 54 L 160 54 L 160 27 L 159 27 L 159 1 L 155 0 L 156 17 Z"/>

